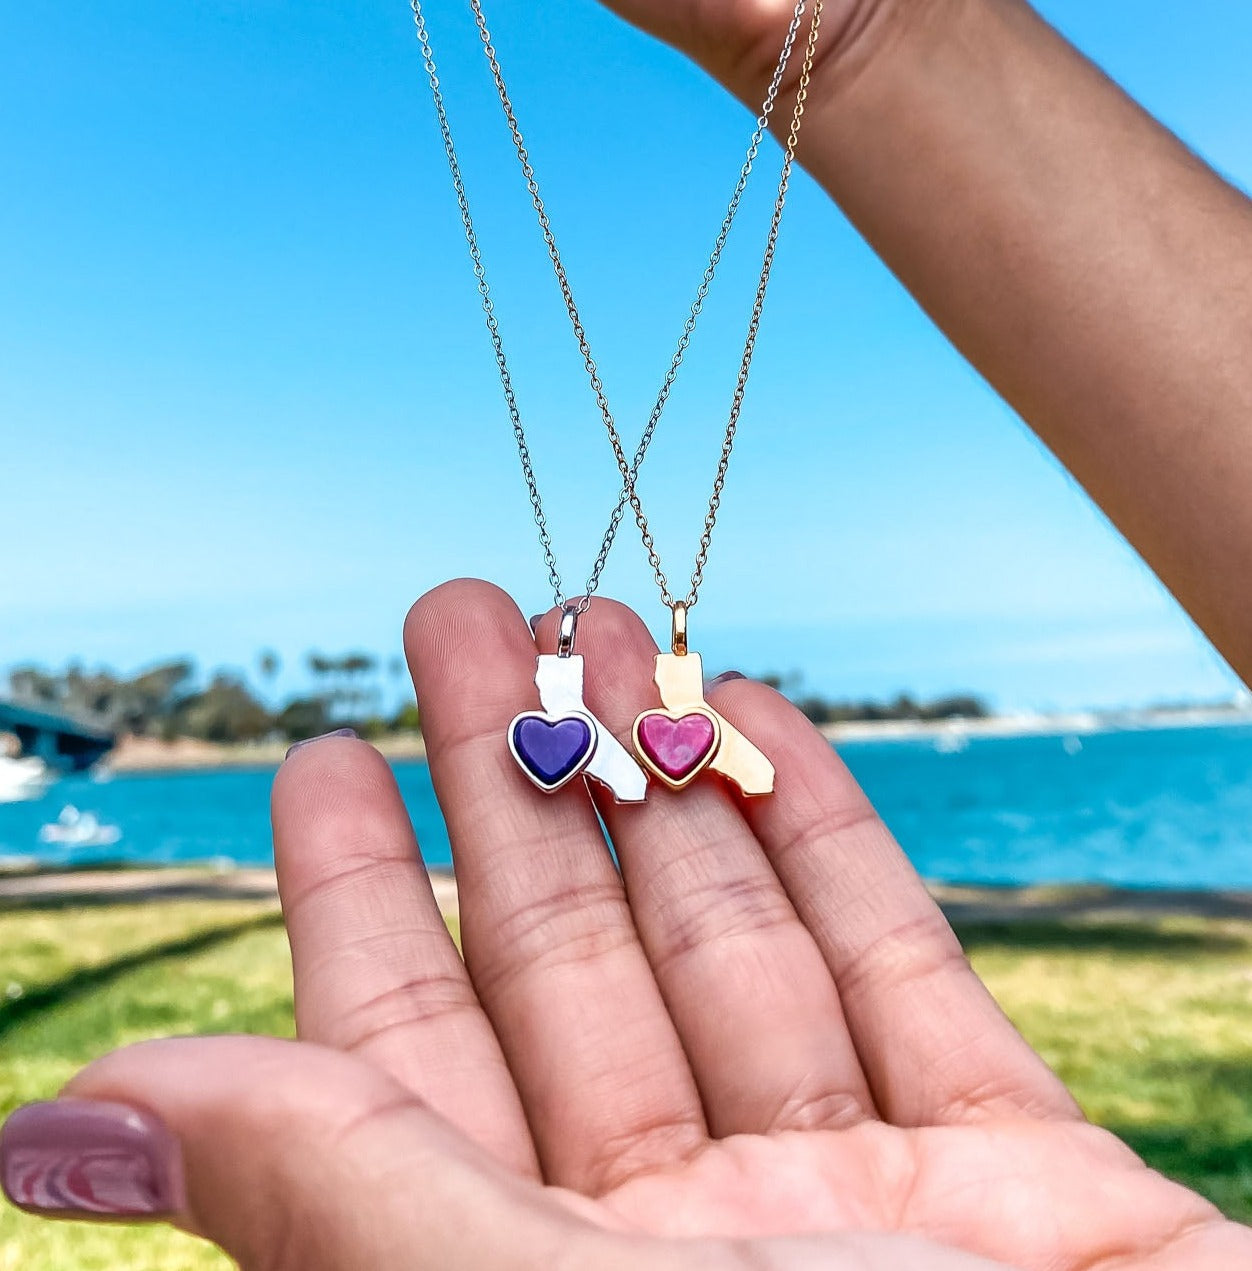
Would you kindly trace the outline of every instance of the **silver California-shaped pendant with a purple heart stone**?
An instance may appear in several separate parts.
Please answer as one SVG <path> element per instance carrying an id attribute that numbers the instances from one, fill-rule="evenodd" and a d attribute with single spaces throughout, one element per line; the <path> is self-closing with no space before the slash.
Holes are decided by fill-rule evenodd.
<path id="1" fill-rule="evenodd" d="M 535 669 L 543 709 L 524 710 L 514 719 L 508 749 L 545 794 L 555 794 L 577 777 L 590 777 L 618 803 L 642 803 L 647 774 L 582 700 L 583 661 L 573 651 L 577 624 L 577 611 L 566 609 L 555 655 L 540 653 Z"/>

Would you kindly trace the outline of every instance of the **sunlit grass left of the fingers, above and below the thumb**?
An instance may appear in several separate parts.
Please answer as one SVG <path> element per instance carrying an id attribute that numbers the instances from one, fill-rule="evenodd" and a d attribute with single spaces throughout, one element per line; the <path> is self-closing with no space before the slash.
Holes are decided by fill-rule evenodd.
<path id="1" fill-rule="evenodd" d="M 269 904 L 0 913 L 0 994 L 3 1112 L 48 1098 L 93 1057 L 132 1041 L 292 1033 L 286 938 Z M 43 1223 L 0 1209 L 0 1271 L 231 1265 L 167 1228 Z"/>

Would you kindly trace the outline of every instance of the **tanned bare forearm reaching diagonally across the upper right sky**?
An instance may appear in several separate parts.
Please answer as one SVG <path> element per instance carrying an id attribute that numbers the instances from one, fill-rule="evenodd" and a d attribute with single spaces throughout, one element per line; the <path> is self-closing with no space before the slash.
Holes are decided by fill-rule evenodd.
<path id="1" fill-rule="evenodd" d="M 808 168 L 1252 677 L 1252 205 L 1018 0 L 821 75 Z"/>

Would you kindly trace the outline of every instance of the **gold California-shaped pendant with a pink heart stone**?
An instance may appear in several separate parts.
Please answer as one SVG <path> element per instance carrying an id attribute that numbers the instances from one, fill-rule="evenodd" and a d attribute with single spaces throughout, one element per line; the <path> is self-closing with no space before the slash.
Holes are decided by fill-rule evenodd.
<path id="1" fill-rule="evenodd" d="M 685 789 L 705 769 L 747 796 L 774 793 L 774 765 L 704 700 L 704 663 L 686 648 L 686 605 L 674 605 L 674 652 L 657 653 L 663 709 L 634 721 L 634 749 L 670 789 Z"/>

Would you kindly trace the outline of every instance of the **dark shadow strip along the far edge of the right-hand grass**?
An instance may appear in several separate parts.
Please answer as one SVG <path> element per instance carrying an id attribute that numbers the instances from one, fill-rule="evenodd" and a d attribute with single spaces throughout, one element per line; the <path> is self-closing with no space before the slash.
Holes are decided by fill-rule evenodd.
<path id="1" fill-rule="evenodd" d="M 962 921 L 949 915 L 967 953 L 1235 953 L 1248 941 L 1219 930 L 1169 932 L 1150 923 L 1066 923 L 1036 919 Z"/>

